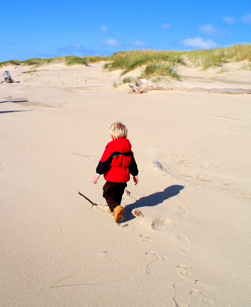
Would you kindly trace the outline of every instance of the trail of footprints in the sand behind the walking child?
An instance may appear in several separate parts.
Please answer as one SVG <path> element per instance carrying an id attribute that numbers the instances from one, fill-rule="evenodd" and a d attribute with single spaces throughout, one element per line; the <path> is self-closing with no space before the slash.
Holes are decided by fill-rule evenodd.
<path id="1" fill-rule="evenodd" d="M 188 217 L 188 210 L 186 206 L 179 206 L 178 207 L 178 216 L 181 218 L 187 218 Z M 171 231 L 172 228 L 176 228 L 175 223 L 173 220 L 169 218 L 157 218 L 153 221 L 151 224 L 151 227 L 155 231 Z M 151 243 L 153 240 L 150 238 L 150 235 L 148 233 L 142 232 L 140 235 L 140 238 L 144 243 Z M 191 246 L 191 242 L 189 240 L 189 237 L 184 234 L 177 235 L 177 247 L 182 252 L 188 252 Z M 167 255 L 159 255 L 155 251 L 146 251 L 145 255 L 149 257 L 151 260 L 146 266 L 146 274 L 148 275 L 154 275 L 157 273 L 157 271 L 161 270 L 161 267 L 163 266 L 165 260 L 168 258 Z M 195 298 L 198 300 L 198 303 L 201 302 L 201 304 L 205 306 L 213 306 L 214 300 L 211 297 L 208 297 L 203 293 L 202 290 L 196 289 L 195 285 L 197 286 L 200 284 L 197 280 L 195 282 L 192 281 L 192 270 L 191 270 L 191 264 L 190 263 L 182 263 L 178 264 L 176 266 L 177 274 L 180 274 L 181 278 L 184 280 L 184 283 L 173 283 L 173 288 L 175 290 L 175 295 L 173 297 L 175 304 L 177 307 L 189 307 L 190 299 Z M 203 287 L 203 285 L 201 285 Z M 186 289 L 189 289 L 188 291 Z"/>

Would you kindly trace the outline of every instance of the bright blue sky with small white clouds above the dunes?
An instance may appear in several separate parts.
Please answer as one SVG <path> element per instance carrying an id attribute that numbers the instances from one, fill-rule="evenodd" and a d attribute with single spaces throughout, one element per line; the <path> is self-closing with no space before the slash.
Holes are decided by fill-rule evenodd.
<path id="1" fill-rule="evenodd" d="M 251 42 L 250 1 L 2 1 L 0 62 Z"/>

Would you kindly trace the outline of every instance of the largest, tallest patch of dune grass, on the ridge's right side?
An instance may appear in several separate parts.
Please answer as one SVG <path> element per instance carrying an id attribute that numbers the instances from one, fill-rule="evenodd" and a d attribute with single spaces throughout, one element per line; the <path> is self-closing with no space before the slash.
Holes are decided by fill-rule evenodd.
<path id="1" fill-rule="evenodd" d="M 106 72 L 120 70 L 120 76 L 140 68 L 141 74 L 135 79 L 145 78 L 153 82 L 163 80 L 181 80 L 178 73 L 178 65 L 190 64 L 192 67 L 206 71 L 209 68 L 221 68 L 217 73 L 228 72 L 228 68 L 222 65 L 229 62 L 251 62 L 251 44 L 238 44 L 229 47 L 215 48 L 208 50 L 193 51 L 154 51 L 135 50 L 121 51 L 110 56 L 103 65 Z M 251 64 L 250 64 L 251 65 Z M 249 64 L 243 69 L 249 69 Z M 122 83 L 127 83 L 129 79 L 122 79 Z M 130 77 L 130 80 L 134 80 Z"/>

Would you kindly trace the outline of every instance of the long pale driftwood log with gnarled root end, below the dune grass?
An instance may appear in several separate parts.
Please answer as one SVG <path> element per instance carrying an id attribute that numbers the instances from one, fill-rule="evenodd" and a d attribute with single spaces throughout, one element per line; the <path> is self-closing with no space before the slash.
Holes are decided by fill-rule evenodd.
<path id="1" fill-rule="evenodd" d="M 136 83 L 129 83 L 129 87 L 136 94 L 142 94 L 152 90 L 206 92 L 206 93 L 216 93 L 216 94 L 251 94 L 250 89 L 243 89 L 243 88 L 170 87 L 169 85 L 153 83 L 152 81 L 145 79 L 137 80 Z"/>

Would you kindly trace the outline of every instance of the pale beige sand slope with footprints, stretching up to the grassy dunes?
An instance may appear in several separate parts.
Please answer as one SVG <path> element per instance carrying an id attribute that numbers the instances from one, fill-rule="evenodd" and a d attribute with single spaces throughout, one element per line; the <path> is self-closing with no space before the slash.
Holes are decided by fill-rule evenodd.
<path id="1" fill-rule="evenodd" d="M 251 84 L 234 65 L 181 72 L 172 85 Z M 118 76 L 57 64 L 0 86 L 0 305 L 250 306 L 250 95 L 136 95 Z M 140 171 L 120 225 L 78 194 L 104 202 L 92 178 L 117 120 Z"/>

